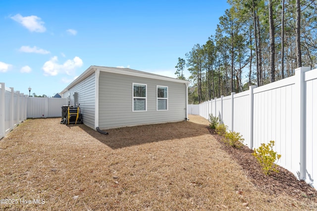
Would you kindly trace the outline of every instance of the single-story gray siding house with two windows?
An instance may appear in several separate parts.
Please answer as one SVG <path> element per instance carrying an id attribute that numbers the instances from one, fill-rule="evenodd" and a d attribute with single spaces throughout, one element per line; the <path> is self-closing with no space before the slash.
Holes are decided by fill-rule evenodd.
<path id="1" fill-rule="evenodd" d="M 91 66 L 60 93 L 80 104 L 84 124 L 109 129 L 187 116 L 188 81 L 129 68 Z"/>

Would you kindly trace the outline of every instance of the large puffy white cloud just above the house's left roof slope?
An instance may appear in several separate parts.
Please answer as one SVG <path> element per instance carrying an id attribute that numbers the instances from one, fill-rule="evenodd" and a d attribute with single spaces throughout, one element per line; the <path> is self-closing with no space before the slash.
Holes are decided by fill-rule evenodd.
<path id="1" fill-rule="evenodd" d="M 57 74 L 73 75 L 75 69 L 83 65 L 83 60 L 75 56 L 72 60 L 68 59 L 63 64 L 58 64 L 57 56 L 53 56 L 49 61 L 45 62 L 42 69 L 46 76 L 56 76 Z"/>

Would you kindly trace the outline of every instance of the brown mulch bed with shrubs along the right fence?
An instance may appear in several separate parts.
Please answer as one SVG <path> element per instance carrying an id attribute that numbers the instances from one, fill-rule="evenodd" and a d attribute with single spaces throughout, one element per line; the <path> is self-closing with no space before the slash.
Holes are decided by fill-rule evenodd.
<path id="1" fill-rule="evenodd" d="M 263 173 L 257 159 L 252 155 L 253 150 L 247 146 L 241 149 L 233 148 L 222 141 L 222 136 L 218 135 L 214 129 L 208 127 L 214 138 L 221 143 L 222 149 L 226 151 L 247 173 L 252 183 L 271 195 L 288 195 L 297 200 L 309 199 L 317 202 L 317 190 L 303 180 L 298 180 L 295 175 L 280 166 L 279 172 L 271 172 L 269 175 Z"/>

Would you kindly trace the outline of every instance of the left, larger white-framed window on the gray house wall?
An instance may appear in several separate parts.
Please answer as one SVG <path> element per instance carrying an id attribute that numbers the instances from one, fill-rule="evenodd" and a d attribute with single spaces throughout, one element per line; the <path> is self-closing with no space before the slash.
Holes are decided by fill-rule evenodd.
<path id="1" fill-rule="evenodd" d="M 132 84 L 133 86 L 133 111 L 147 110 L 147 84 Z"/>

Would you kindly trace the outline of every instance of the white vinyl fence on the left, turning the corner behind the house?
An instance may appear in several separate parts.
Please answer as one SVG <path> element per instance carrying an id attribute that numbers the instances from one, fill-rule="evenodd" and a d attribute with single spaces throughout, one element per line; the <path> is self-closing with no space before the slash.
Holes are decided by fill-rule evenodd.
<path id="1" fill-rule="evenodd" d="M 0 83 L 0 139 L 27 118 L 61 117 L 67 98 L 28 97 Z"/>

